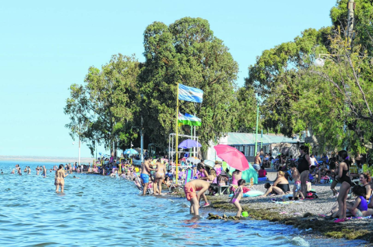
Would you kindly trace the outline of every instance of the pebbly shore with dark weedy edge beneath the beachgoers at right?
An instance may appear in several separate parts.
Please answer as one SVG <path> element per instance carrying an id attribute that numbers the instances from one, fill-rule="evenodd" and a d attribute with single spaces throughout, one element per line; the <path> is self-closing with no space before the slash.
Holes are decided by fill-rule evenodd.
<path id="1" fill-rule="evenodd" d="M 267 174 L 269 180 L 264 183 L 273 183 L 275 172 Z M 265 191 L 264 183 L 254 185 L 253 189 Z M 293 189 L 293 185 L 290 185 Z M 366 246 L 373 246 L 373 219 L 352 219 L 343 223 L 334 223 L 332 220 L 325 220 L 321 214 L 326 214 L 336 203 L 336 198 L 332 198 L 330 184 L 312 185 L 319 198 L 304 200 L 302 202 L 291 202 L 289 204 L 278 204 L 272 199 L 280 200 L 281 196 L 266 198 L 242 198 L 240 204 L 242 211 L 247 211 L 252 220 L 269 220 L 279 224 L 292 225 L 300 230 L 306 230 L 306 235 L 312 237 L 331 237 L 346 239 L 363 239 Z M 337 185 L 336 189 L 339 189 Z M 172 194 L 174 196 L 185 197 L 183 191 Z M 234 215 L 236 208 L 229 204 L 228 195 L 207 196 L 210 206 L 214 211 L 221 212 L 219 215 Z M 284 199 L 285 201 L 286 198 Z"/>

